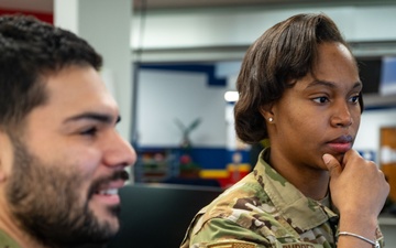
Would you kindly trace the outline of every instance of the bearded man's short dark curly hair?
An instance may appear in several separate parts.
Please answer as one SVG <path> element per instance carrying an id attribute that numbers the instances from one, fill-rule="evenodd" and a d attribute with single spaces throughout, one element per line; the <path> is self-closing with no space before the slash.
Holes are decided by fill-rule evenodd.
<path id="1" fill-rule="evenodd" d="M 99 71 L 102 58 L 72 32 L 33 17 L 0 17 L 0 130 L 23 127 L 46 101 L 45 77 L 70 65 Z"/>

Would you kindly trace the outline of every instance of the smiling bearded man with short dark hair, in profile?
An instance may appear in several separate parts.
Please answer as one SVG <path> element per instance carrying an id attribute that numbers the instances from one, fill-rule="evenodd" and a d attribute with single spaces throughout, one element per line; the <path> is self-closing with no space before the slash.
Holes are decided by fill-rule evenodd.
<path id="1" fill-rule="evenodd" d="M 0 18 L 0 247 L 103 244 L 133 148 L 120 137 L 102 58 L 34 18 Z"/>

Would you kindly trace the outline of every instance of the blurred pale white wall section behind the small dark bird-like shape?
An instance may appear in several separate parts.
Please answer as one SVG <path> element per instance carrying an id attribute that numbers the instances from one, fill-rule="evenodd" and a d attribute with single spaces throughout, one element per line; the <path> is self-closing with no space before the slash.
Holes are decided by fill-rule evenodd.
<path id="1" fill-rule="evenodd" d="M 138 88 L 138 143 L 177 147 L 178 118 L 201 123 L 191 132 L 194 145 L 226 147 L 224 86 L 208 86 L 205 73 L 141 69 Z"/>

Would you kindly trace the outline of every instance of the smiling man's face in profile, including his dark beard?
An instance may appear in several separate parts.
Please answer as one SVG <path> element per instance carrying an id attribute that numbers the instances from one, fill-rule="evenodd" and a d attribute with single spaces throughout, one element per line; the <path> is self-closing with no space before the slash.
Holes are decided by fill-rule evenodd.
<path id="1" fill-rule="evenodd" d="M 44 80 L 48 99 L 10 140 L 12 215 L 50 247 L 106 241 L 119 229 L 118 188 L 136 159 L 116 130 L 118 106 L 90 66 L 69 66 Z"/>

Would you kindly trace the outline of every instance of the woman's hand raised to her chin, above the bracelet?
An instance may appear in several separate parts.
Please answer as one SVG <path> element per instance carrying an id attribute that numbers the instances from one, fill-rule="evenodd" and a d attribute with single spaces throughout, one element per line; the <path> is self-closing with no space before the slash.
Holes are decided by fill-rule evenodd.
<path id="1" fill-rule="evenodd" d="M 332 203 L 340 211 L 340 230 L 374 238 L 377 217 L 389 194 L 384 173 L 354 150 L 344 154 L 341 164 L 330 154 L 322 159 L 330 173 Z"/>

